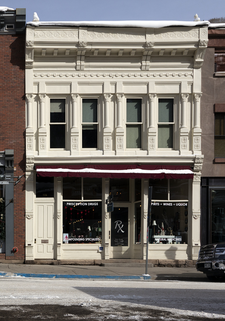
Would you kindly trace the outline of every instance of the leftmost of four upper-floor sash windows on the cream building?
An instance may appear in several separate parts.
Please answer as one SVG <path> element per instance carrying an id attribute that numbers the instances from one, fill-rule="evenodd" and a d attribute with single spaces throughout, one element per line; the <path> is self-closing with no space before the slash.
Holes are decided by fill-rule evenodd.
<path id="1" fill-rule="evenodd" d="M 65 148 L 66 100 L 50 99 L 50 148 Z"/>

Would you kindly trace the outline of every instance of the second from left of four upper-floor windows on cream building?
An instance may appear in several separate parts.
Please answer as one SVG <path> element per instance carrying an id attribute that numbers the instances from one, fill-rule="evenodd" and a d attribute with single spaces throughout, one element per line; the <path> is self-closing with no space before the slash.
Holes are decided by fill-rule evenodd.
<path id="1" fill-rule="evenodd" d="M 82 99 L 82 148 L 98 148 L 98 100 Z"/>

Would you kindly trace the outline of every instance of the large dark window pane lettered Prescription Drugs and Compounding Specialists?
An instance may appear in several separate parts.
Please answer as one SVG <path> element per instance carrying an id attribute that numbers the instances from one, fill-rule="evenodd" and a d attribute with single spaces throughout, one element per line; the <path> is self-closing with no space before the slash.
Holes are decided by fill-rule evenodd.
<path id="1" fill-rule="evenodd" d="M 63 202 L 63 244 L 102 242 L 102 202 Z"/>

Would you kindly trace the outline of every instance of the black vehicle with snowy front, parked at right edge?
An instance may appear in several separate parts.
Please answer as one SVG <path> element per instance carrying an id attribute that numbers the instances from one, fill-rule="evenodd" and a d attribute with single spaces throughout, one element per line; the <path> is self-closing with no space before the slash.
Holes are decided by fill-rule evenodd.
<path id="1" fill-rule="evenodd" d="M 213 282 L 225 282 L 225 242 L 204 245 L 200 248 L 196 269 Z"/>

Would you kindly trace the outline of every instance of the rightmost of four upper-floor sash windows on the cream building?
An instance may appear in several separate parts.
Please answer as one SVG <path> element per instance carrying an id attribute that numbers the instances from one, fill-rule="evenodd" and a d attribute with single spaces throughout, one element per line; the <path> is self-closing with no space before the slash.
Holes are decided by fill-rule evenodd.
<path id="1" fill-rule="evenodd" d="M 174 102 L 173 98 L 158 100 L 158 148 L 173 148 Z"/>

